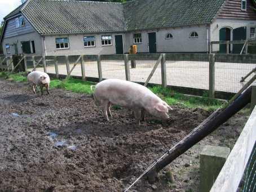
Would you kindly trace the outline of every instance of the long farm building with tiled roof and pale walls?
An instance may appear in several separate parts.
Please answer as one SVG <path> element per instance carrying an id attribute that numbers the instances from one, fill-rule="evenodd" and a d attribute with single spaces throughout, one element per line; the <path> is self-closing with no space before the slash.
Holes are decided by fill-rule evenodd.
<path id="1" fill-rule="evenodd" d="M 249 0 L 29 0 L 5 17 L 1 44 L 5 55 L 120 54 L 132 44 L 139 53 L 206 53 L 211 41 L 255 39 L 255 31 Z"/>

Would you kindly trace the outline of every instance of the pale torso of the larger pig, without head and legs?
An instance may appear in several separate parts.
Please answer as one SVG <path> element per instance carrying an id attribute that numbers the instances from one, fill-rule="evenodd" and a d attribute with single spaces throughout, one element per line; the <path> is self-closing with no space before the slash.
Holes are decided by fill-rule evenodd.
<path id="1" fill-rule="evenodd" d="M 147 87 L 120 79 L 107 79 L 98 83 L 94 94 L 100 99 L 109 100 L 112 104 L 123 106 L 140 107 L 149 97 L 157 99 Z"/>

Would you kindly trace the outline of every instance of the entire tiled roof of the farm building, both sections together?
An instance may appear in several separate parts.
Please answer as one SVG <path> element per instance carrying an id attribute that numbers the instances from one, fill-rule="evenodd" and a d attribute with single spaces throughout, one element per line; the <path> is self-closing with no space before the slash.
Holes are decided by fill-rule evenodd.
<path id="1" fill-rule="evenodd" d="M 28 0 L 21 12 L 39 34 L 121 32 L 210 23 L 225 0 L 134 0 L 107 3 Z"/>

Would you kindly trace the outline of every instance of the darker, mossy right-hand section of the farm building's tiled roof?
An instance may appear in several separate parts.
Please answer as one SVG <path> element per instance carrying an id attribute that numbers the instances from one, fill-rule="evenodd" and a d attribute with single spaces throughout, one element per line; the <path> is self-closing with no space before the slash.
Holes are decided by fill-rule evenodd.
<path id="1" fill-rule="evenodd" d="M 123 5 L 127 30 L 210 23 L 225 0 L 137 0 Z"/>

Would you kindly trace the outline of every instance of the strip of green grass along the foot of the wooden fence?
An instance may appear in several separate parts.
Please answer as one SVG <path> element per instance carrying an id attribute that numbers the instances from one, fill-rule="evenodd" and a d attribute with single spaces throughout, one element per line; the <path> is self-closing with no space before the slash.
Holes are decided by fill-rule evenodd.
<path id="1" fill-rule="evenodd" d="M 25 73 L 0 72 L 0 77 L 5 79 L 13 79 L 15 82 L 27 81 Z M 73 78 L 69 78 L 67 81 L 51 79 L 50 88 L 62 88 L 64 90 L 70 90 L 77 93 L 91 94 L 91 85 L 95 85 L 95 83 Z M 170 88 L 163 88 L 161 86 L 155 86 L 149 89 L 165 100 L 167 104 L 179 105 L 183 108 L 203 108 L 206 110 L 215 110 L 223 104 L 222 100 L 210 99 L 207 92 L 204 93 L 202 97 L 197 97 L 184 95 L 175 92 Z"/>

